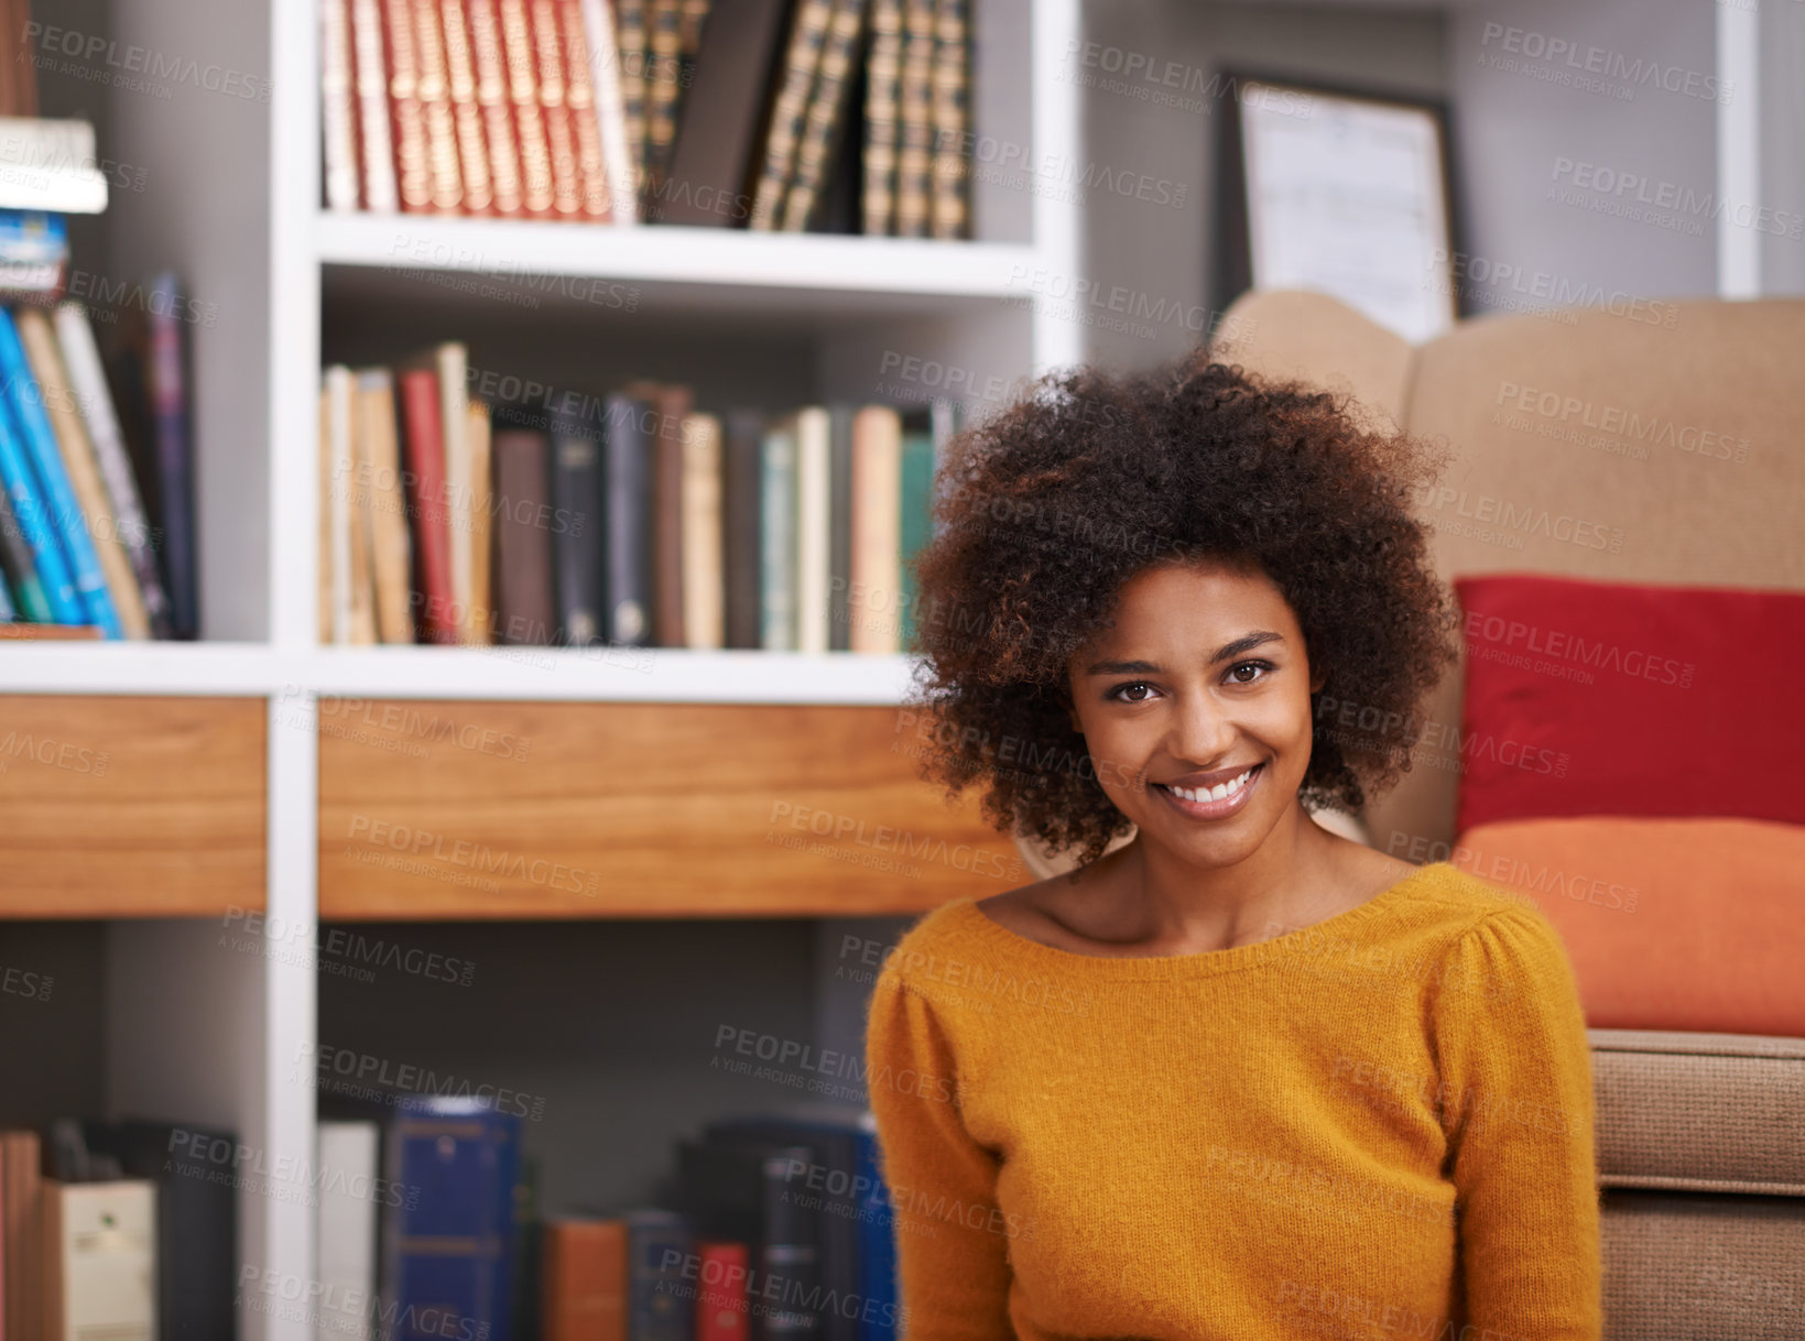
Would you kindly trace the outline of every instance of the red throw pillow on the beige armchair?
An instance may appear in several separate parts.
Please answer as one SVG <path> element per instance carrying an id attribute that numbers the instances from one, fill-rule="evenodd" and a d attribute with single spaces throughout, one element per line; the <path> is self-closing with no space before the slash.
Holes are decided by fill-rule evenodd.
<path id="1" fill-rule="evenodd" d="M 1457 578 L 1457 830 L 1565 816 L 1805 823 L 1805 594 Z"/>

